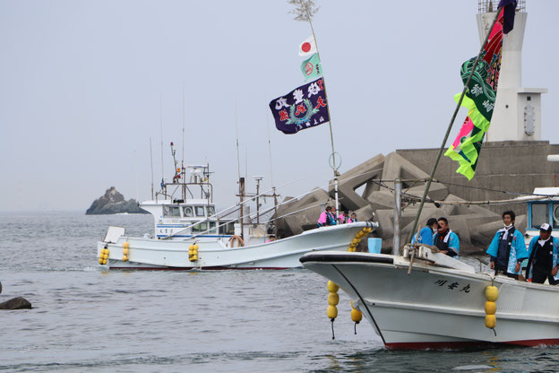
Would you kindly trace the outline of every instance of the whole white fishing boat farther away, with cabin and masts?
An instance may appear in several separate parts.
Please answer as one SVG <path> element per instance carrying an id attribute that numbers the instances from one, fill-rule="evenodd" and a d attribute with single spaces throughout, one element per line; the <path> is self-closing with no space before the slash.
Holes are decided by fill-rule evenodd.
<path id="1" fill-rule="evenodd" d="M 183 181 L 186 169 L 189 182 Z M 99 264 L 109 269 L 286 269 L 300 267 L 299 258 L 310 251 L 347 250 L 359 232 L 363 238 L 377 226 L 354 222 L 271 240 L 260 212 L 254 216 L 248 211 L 244 179 L 240 208 L 216 213 L 210 176 L 209 166 L 177 169 L 172 182 L 162 182 L 154 200 L 140 204 L 153 216 L 153 236 L 128 237 L 124 228 L 109 227 L 98 242 Z M 258 207 L 259 197 L 257 193 L 252 198 Z M 229 217 L 239 210 L 238 220 Z"/>

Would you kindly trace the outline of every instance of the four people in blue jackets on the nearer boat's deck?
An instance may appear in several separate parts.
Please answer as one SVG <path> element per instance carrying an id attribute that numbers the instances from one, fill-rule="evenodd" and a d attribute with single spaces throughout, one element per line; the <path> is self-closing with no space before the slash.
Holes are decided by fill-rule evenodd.
<path id="1" fill-rule="evenodd" d="M 524 235 L 514 227 L 514 212 L 505 211 L 502 217 L 504 227 L 497 230 L 486 251 L 495 274 L 518 280 L 525 268 L 524 279 L 529 282 L 544 283 L 547 280 L 550 285 L 559 283 L 559 239 L 551 235 L 552 227 L 547 223 L 542 224 L 539 236 L 530 240 L 527 249 Z M 414 236 L 412 243 L 438 247 L 443 254 L 455 258 L 458 258 L 460 251 L 460 240 L 445 218 L 429 219 L 418 237 L 417 234 Z M 523 266 L 526 260 L 528 265 Z"/>

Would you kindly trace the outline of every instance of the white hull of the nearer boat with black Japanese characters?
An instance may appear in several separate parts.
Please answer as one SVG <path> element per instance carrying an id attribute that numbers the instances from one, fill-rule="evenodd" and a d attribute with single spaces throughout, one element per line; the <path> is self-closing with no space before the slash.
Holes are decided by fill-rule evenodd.
<path id="1" fill-rule="evenodd" d="M 559 288 L 495 278 L 497 325 L 485 325 L 489 273 L 467 273 L 401 256 L 321 253 L 301 258 L 305 268 L 336 282 L 393 349 L 441 349 L 559 344 Z"/>

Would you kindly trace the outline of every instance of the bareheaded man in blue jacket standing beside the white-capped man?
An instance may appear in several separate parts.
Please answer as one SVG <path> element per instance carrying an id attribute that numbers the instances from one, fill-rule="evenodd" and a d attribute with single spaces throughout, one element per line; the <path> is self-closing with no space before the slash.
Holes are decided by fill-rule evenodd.
<path id="1" fill-rule="evenodd" d="M 487 254 L 491 256 L 491 269 L 495 274 L 504 274 L 518 279 L 521 273 L 520 264 L 528 257 L 524 236 L 514 227 L 516 215 L 512 211 L 505 211 L 502 215 L 504 227 L 497 230 L 495 237 L 487 247 Z"/>

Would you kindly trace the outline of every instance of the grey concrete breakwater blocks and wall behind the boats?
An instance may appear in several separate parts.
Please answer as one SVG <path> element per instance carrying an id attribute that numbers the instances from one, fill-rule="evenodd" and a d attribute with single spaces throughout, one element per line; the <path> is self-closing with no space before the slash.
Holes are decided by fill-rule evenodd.
<path id="1" fill-rule="evenodd" d="M 340 175 L 340 210 L 357 213 L 360 221 L 376 221 L 374 237 L 383 239 L 383 250 L 390 250 L 393 239 L 393 181 L 403 181 L 401 240 L 407 239 L 417 213 L 425 179 L 433 167 L 438 149 L 397 150 L 378 154 Z M 548 162 L 547 155 L 559 153 L 559 144 L 546 141 L 498 142 L 484 144 L 476 176 L 469 181 L 460 174 L 456 162 L 443 157 L 434 175 L 428 198 L 452 203 L 458 201 L 499 201 L 512 199 L 534 188 L 559 185 L 559 163 Z M 332 183 L 331 183 L 332 185 Z M 316 226 L 326 204 L 333 205 L 333 187 L 315 189 L 301 200 L 282 205 L 278 210 L 280 234 L 290 236 Z M 286 200 L 288 200 L 286 198 Z M 526 230 L 526 204 L 452 205 L 429 203 L 424 206 L 419 224 L 441 216 L 450 221 L 460 237 L 460 253 L 477 254 L 489 245 L 495 231 L 503 225 L 501 213 L 513 210 L 516 227 Z M 363 242 L 366 245 L 365 241 Z M 362 247 L 365 248 L 365 247 Z"/>

